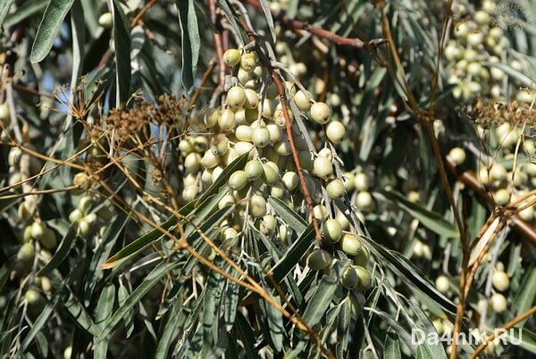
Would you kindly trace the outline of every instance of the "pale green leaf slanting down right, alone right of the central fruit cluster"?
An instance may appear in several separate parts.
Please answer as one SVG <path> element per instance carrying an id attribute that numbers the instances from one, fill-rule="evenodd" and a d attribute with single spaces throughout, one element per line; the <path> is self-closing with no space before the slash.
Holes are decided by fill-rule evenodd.
<path id="1" fill-rule="evenodd" d="M 405 196 L 394 191 L 381 192 L 389 201 L 396 203 L 404 211 L 423 223 L 423 226 L 440 236 L 459 238 L 460 234 L 454 224 L 445 220 L 438 213 L 431 212 L 421 205 L 410 202 Z"/>

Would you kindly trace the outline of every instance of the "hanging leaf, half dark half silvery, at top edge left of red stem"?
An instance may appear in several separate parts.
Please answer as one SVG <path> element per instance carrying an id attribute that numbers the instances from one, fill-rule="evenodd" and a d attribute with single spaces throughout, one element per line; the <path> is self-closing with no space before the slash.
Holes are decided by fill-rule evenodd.
<path id="1" fill-rule="evenodd" d="M 199 60 L 199 29 L 193 0 L 177 0 L 182 39 L 182 84 L 189 90 L 194 86 L 197 61 Z"/>

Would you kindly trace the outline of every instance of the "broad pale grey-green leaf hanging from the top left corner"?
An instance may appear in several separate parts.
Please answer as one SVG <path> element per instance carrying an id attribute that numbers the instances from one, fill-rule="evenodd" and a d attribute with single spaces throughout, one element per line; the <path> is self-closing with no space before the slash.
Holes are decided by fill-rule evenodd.
<path id="1" fill-rule="evenodd" d="M 29 54 L 29 61 L 31 63 L 42 61 L 50 52 L 58 31 L 63 24 L 63 20 L 67 16 L 67 13 L 69 13 L 69 10 L 71 10 L 73 2 L 74 0 L 51 0 L 48 3 L 43 20 L 39 24 L 38 34 L 36 35 L 33 46 L 31 46 L 31 53 Z"/>

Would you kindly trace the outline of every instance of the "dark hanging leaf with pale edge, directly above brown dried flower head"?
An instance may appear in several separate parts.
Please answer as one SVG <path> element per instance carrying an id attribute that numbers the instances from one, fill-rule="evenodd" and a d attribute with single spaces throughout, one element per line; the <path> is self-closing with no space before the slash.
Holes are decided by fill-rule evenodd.
<path id="1" fill-rule="evenodd" d="M 115 79 L 117 106 L 130 97 L 130 24 L 118 0 L 113 0 L 113 41 L 115 44 Z"/>

